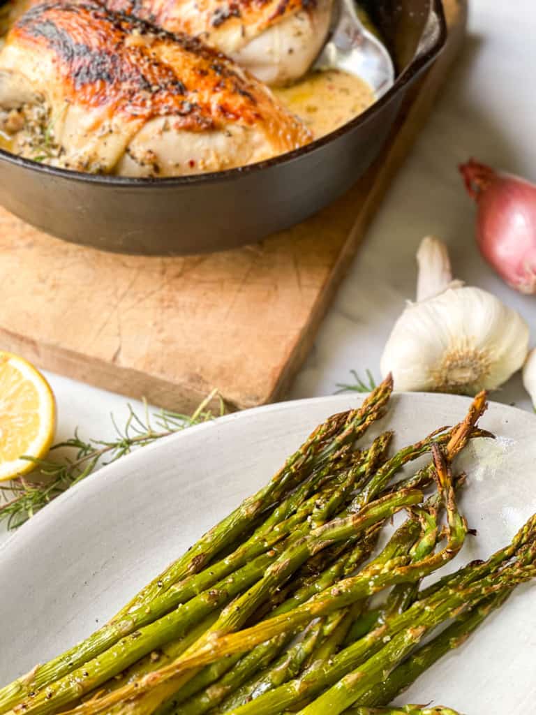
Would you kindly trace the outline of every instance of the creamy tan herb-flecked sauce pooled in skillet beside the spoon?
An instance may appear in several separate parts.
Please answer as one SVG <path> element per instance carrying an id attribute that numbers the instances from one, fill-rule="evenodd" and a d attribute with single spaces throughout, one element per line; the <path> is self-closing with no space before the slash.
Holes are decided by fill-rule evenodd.
<path id="1" fill-rule="evenodd" d="M 375 101 L 367 82 L 336 69 L 311 72 L 291 87 L 278 87 L 273 92 L 307 124 L 315 139 L 342 127 Z"/>

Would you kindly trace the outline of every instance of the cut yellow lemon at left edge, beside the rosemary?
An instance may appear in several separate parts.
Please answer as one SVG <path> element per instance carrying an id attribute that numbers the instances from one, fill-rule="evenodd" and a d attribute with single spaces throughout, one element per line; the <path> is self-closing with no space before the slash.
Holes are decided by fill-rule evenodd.
<path id="1" fill-rule="evenodd" d="M 27 360 L 0 350 L 0 481 L 34 467 L 22 455 L 46 455 L 55 425 L 56 404 L 49 383 Z"/>

